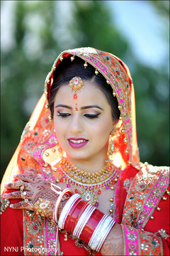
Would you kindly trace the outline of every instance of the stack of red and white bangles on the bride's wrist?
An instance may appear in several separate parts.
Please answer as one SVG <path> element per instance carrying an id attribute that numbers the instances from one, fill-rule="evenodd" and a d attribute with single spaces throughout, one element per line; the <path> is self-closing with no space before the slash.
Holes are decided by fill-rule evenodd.
<path id="1" fill-rule="evenodd" d="M 57 220 L 57 209 L 65 193 L 69 193 L 71 197 Z M 72 193 L 69 188 L 62 192 L 55 206 L 54 220 L 59 228 L 83 240 L 92 250 L 99 252 L 115 221 L 111 216 L 101 213 L 89 202 L 83 201 L 79 194 L 76 193 L 72 196 Z"/>

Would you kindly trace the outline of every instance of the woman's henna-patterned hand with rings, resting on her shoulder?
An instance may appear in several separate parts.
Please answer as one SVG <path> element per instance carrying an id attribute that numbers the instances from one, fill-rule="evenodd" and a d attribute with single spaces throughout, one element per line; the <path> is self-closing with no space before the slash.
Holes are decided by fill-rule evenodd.
<path id="1" fill-rule="evenodd" d="M 17 189 L 17 191 L 5 193 L 4 198 L 25 199 L 24 201 L 11 204 L 10 207 L 13 209 L 35 210 L 37 212 L 40 210 L 40 214 L 42 213 L 43 209 L 46 209 L 45 211 L 43 210 L 43 212 L 45 212 L 45 217 L 52 218 L 54 204 L 60 195 L 60 187 L 55 186 L 54 184 L 50 183 L 50 181 L 47 181 L 41 176 L 15 174 L 13 177 L 16 178 L 17 181 L 6 183 L 4 184 L 4 187 L 8 189 Z M 43 208 L 43 206 L 47 207 Z"/>

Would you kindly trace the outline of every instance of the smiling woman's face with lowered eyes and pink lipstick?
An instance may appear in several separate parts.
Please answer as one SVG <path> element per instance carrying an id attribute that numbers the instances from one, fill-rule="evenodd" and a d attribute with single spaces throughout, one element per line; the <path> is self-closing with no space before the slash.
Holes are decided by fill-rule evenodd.
<path id="1" fill-rule="evenodd" d="M 113 129 L 111 106 L 94 82 L 84 81 L 77 99 L 69 85 L 62 85 L 54 102 L 57 141 L 70 161 L 106 159 L 108 138 Z"/>

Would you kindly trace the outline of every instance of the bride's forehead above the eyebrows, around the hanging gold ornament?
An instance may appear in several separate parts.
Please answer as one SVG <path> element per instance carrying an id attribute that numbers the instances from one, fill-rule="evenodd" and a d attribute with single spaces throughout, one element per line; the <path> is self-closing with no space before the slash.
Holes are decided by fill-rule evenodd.
<path id="1" fill-rule="evenodd" d="M 62 85 L 57 94 L 55 95 L 55 102 L 79 102 L 82 104 L 108 104 L 106 96 L 103 94 L 101 89 L 96 85 L 95 82 L 90 82 L 89 80 L 84 80 L 84 88 L 81 87 L 80 92 L 77 91 L 77 100 L 74 99 L 74 90 L 70 91 L 69 83 L 66 85 Z"/>

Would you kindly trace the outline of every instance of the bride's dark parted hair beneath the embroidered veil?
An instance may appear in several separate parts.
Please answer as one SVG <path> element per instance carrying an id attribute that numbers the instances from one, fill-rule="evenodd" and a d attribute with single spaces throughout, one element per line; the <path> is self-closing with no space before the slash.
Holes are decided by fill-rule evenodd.
<path id="1" fill-rule="evenodd" d="M 106 82 L 106 78 L 98 73 L 95 75 L 95 68 L 88 63 L 87 68 L 84 68 L 84 60 L 75 56 L 74 61 L 70 60 L 70 56 L 64 58 L 62 62 L 57 66 L 55 73 L 54 73 L 54 80 L 52 83 L 52 87 L 50 90 L 50 110 L 52 116 L 54 114 L 54 100 L 57 90 L 67 83 L 69 83 L 72 78 L 75 76 L 80 77 L 82 80 L 92 80 L 96 82 L 98 88 L 103 92 L 108 100 L 108 104 L 111 105 L 111 112 L 113 120 L 118 121 L 120 117 L 120 110 L 118 109 L 118 100 L 116 97 L 113 97 L 113 89 L 111 85 L 108 85 Z"/>

